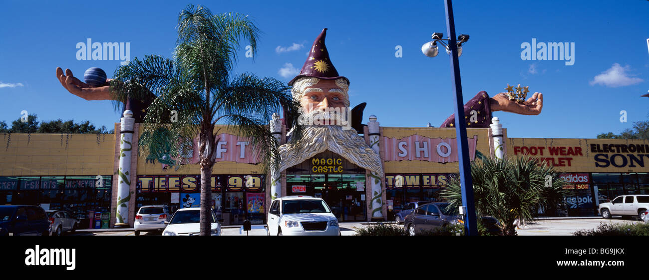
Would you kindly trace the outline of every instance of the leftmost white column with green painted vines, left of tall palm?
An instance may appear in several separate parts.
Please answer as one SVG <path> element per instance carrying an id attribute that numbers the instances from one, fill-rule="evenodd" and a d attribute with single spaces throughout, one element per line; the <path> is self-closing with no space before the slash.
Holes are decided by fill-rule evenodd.
<path id="1" fill-rule="evenodd" d="M 119 131 L 121 140 L 119 141 L 119 170 L 117 170 L 119 183 L 117 184 L 116 227 L 129 226 L 130 175 L 132 174 L 130 155 L 134 123 L 133 112 L 130 110 L 124 111 Z"/>

